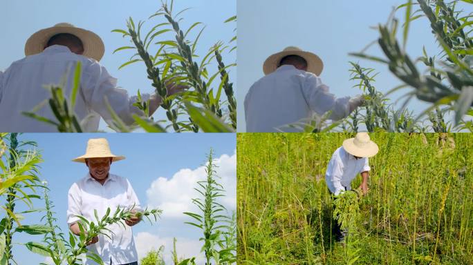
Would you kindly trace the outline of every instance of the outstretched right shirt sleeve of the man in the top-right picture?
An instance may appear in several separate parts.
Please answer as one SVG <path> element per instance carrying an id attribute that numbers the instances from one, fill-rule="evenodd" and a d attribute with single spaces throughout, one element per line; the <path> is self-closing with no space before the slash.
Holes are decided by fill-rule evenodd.
<path id="1" fill-rule="evenodd" d="M 322 83 L 320 77 L 308 73 L 303 86 L 304 97 L 306 97 L 309 108 L 319 115 L 331 110 L 331 119 L 343 119 L 349 112 L 350 97 L 336 98 L 329 92 L 328 86 Z"/>

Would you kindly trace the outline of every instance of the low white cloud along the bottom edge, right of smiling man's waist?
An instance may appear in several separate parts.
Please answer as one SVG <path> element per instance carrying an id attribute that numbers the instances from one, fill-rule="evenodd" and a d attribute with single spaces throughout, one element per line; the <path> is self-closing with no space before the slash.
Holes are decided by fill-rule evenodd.
<path id="1" fill-rule="evenodd" d="M 201 253 L 202 242 L 198 239 L 188 239 L 177 237 L 176 251 L 179 259 L 196 257 L 196 264 L 204 262 L 203 253 Z M 142 259 L 151 250 L 158 250 L 160 246 L 165 246 L 164 259 L 166 264 L 173 264 L 171 251 L 173 250 L 174 238 L 159 237 L 147 232 L 140 232 L 135 236 L 138 259 Z"/>

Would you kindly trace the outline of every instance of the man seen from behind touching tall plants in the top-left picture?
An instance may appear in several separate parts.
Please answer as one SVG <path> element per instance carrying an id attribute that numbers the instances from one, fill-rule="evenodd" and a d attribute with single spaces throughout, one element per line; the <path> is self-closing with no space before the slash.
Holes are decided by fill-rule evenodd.
<path id="1" fill-rule="evenodd" d="M 117 79 L 98 63 L 104 55 L 104 43 L 95 33 L 75 28 L 68 23 L 59 23 L 51 28 L 39 30 L 26 41 L 24 59 L 15 61 L 0 74 L 0 131 L 1 132 L 55 132 L 55 126 L 26 117 L 21 112 L 30 112 L 50 98 L 45 85 L 61 84 L 67 77 L 65 95 L 70 95 L 77 62 L 82 63 L 80 90 L 77 92 L 75 114 L 82 121 L 86 132 L 98 130 L 100 116 L 110 123 L 111 108 L 126 123 L 133 123 L 133 114 L 144 113 L 133 106 L 136 97 L 129 97 L 127 90 L 117 88 Z M 169 85 L 169 94 L 182 90 L 182 86 Z M 150 99 L 150 115 L 161 104 L 160 96 L 143 95 Z M 44 104 L 35 113 L 55 121 L 53 111 Z"/>

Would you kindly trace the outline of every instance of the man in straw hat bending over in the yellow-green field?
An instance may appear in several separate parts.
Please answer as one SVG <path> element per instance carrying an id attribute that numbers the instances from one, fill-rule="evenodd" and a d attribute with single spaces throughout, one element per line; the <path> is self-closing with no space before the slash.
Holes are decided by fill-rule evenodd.
<path id="1" fill-rule="evenodd" d="M 368 157 L 376 155 L 378 150 L 378 145 L 369 139 L 368 133 L 357 133 L 355 138 L 344 140 L 343 146 L 335 150 L 328 162 L 325 173 L 328 190 L 335 196 L 351 190 L 351 181 L 360 173 L 362 184 L 359 188 L 363 195 L 366 195 L 369 190 L 368 177 L 371 170 Z M 342 242 L 346 233 L 342 232 L 337 222 L 336 224 L 335 237 L 338 242 Z"/>

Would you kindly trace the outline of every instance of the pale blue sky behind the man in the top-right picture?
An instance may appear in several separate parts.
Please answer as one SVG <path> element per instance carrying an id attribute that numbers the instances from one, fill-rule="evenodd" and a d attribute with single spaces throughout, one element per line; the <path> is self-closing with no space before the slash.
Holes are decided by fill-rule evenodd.
<path id="1" fill-rule="evenodd" d="M 263 61 L 287 46 L 298 46 L 322 58 L 324 71 L 320 77 L 337 97 L 360 94 L 358 88 L 352 88 L 355 83 L 349 81 L 349 61 L 358 61 L 362 67 L 375 68 L 380 72 L 375 86 L 381 92 L 385 93 L 401 84 L 386 66 L 348 54 L 360 52 L 377 39 L 378 32 L 372 27 L 385 23 L 393 7 L 405 2 L 407 1 L 237 1 L 238 131 L 245 131 L 243 99 L 254 81 L 263 77 Z M 416 6 L 415 9 L 417 8 Z M 398 17 L 403 22 L 405 11 L 398 12 Z M 407 52 L 414 58 L 422 55 L 423 46 L 429 55 L 436 55 L 439 51 L 429 25 L 425 18 L 411 23 Z M 402 30 L 399 32 L 402 34 Z M 381 55 L 378 46 L 373 46 L 368 51 L 370 55 Z M 402 90 L 390 98 L 396 100 L 407 91 Z M 427 105 L 414 100 L 409 108 L 420 113 Z"/>

